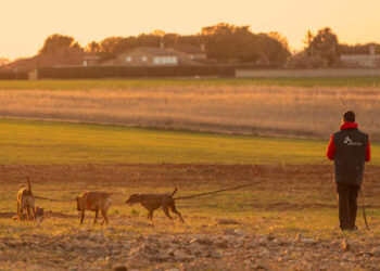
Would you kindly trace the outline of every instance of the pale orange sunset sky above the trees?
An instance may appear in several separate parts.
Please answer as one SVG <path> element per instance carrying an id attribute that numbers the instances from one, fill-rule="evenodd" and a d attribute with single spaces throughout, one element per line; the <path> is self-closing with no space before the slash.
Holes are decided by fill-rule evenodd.
<path id="1" fill-rule="evenodd" d="M 343 43 L 380 43 L 380 0 L 0 0 L 0 57 L 35 55 L 52 34 L 81 46 L 162 29 L 198 34 L 217 23 L 278 31 L 301 50 L 309 29 L 329 26 Z"/>

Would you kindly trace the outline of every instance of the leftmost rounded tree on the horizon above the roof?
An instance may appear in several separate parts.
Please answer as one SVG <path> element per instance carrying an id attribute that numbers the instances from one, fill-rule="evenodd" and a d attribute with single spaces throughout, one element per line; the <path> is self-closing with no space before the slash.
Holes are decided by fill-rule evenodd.
<path id="1" fill-rule="evenodd" d="M 43 43 L 43 47 L 39 50 L 41 54 L 64 54 L 71 49 L 81 49 L 78 42 L 69 36 L 63 36 L 54 34 L 49 36 Z"/>

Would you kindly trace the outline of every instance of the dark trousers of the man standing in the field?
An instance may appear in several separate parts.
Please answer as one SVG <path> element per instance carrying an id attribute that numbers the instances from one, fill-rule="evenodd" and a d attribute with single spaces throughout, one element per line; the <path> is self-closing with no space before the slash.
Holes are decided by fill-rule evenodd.
<path id="1" fill-rule="evenodd" d="M 339 221 L 342 230 L 353 230 L 355 228 L 359 189 L 355 185 L 337 183 Z"/>

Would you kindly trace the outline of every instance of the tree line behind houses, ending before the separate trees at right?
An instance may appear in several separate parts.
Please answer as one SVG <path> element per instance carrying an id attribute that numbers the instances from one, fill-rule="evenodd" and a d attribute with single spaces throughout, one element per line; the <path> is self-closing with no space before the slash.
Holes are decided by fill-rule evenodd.
<path id="1" fill-rule="evenodd" d="M 218 63 L 259 63 L 283 64 L 290 56 L 288 42 L 278 33 L 253 34 L 249 26 L 217 24 L 203 27 L 197 35 L 166 34 L 155 30 L 129 37 L 109 37 L 100 42 L 91 41 L 81 48 L 73 37 L 49 36 L 39 53 L 60 55 L 78 49 L 94 53 L 101 61 L 114 59 L 118 53 L 137 47 L 165 47 L 190 44 L 201 48 L 204 46 L 208 60 Z"/>

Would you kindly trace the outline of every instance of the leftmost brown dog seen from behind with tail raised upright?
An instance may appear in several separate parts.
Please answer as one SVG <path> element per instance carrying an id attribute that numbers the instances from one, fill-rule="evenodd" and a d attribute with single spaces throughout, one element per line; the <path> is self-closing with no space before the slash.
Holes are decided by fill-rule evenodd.
<path id="1" fill-rule="evenodd" d="M 23 210 L 27 210 L 27 220 L 36 219 L 36 208 L 35 208 L 35 197 L 31 192 L 31 184 L 29 177 L 26 178 L 27 188 L 24 188 L 18 191 L 17 194 L 17 219 L 18 221 L 23 220 Z M 33 218 L 30 214 L 33 212 Z"/>

